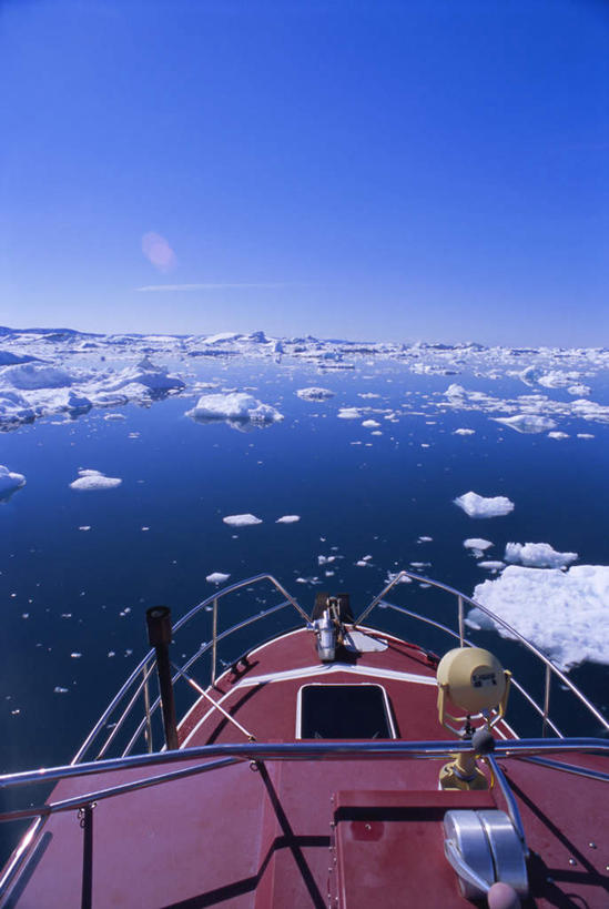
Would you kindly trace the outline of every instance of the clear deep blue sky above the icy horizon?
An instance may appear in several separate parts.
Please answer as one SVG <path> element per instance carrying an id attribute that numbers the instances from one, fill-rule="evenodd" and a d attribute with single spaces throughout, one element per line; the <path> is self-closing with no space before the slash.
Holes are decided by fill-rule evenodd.
<path id="1" fill-rule="evenodd" d="M 609 344 L 609 2 L 0 0 L 0 324 Z"/>

